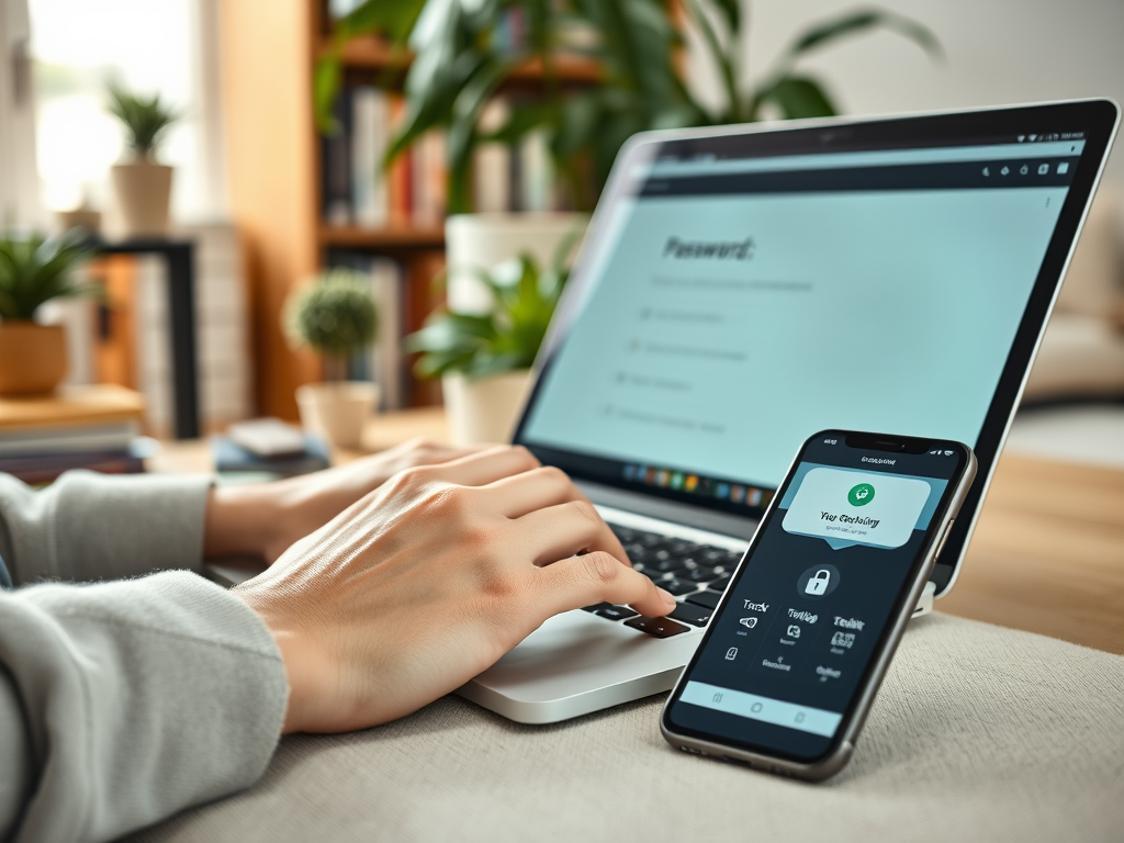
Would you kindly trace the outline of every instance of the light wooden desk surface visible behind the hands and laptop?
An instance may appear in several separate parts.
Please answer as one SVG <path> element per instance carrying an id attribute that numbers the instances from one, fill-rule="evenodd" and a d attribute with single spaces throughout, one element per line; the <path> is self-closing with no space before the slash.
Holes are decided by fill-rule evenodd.
<path id="1" fill-rule="evenodd" d="M 445 441 L 443 411 L 380 416 L 363 444 L 415 436 Z M 167 443 L 149 470 L 210 471 L 207 443 Z M 1124 654 L 1124 471 L 1000 457 L 960 578 L 936 608 Z"/>

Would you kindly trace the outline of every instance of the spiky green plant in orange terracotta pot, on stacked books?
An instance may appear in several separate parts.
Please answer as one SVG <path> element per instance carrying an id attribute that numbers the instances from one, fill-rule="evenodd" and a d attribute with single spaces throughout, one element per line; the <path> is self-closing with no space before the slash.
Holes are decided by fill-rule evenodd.
<path id="1" fill-rule="evenodd" d="M 63 326 L 35 315 L 52 299 L 99 292 L 74 280 L 85 253 L 76 234 L 0 238 L 0 396 L 49 392 L 66 377 Z"/>

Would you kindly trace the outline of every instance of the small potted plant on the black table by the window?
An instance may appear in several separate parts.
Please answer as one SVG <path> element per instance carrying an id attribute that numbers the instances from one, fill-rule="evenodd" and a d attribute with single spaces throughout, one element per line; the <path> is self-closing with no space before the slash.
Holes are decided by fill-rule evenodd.
<path id="1" fill-rule="evenodd" d="M 164 132 L 180 115 L 161 100 L 110 83 L 109 111 L 125 127 L 127 160 L 112 167 L 114 190 L 126 237 L 167 234 L 172 167 L 156 160 Z"/>

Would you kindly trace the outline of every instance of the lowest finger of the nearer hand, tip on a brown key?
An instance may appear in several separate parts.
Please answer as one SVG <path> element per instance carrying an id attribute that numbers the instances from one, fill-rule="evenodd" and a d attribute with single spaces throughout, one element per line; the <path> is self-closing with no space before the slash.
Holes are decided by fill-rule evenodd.
<path id="1" fill-rule="evenodd" d="M 564 559 L 535 573 L 538 608 L 547 616 L 597 602 L 628 605 L 649 617 L 660 617 L 676 608 L 676 598 L 608 553 Z"/>

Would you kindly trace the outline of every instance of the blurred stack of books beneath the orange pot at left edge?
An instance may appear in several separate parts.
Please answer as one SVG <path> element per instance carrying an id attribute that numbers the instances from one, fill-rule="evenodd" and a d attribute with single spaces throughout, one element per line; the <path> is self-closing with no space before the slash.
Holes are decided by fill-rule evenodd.
<path id="1" fill-rule="evenodd" d="M 142 472 L 143 415 L 139 393 L 105 384 L 64 388 L 46 397 L 0 398 L 0 472 L 36 486 L 71 469 Z"/>

